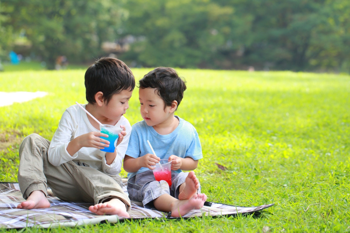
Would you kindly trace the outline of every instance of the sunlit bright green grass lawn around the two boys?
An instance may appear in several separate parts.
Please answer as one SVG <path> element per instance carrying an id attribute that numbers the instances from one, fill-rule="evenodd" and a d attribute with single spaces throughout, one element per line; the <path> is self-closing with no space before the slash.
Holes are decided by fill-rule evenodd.
<path id="1" fill-rule="evenodd" d="M 132 69 L 137 80 L 150 70 Z M 213 202 L 275 205 L 259 216 L 136 220 L 68 230 L 263 232 L 263 227 L 269 227 L 270 232 L 350 231 L 349 75 L 177 71 L 186 78 L 188 89 L 176 114 L 194 124 L 202 143 L 204 158 L 196 169 L 202 192 Z M 0 107 L 1 140 L 17 138 L 0 152 L 0 181 L 17 181 L 23 137 L 35 132 L 50 139 L 65 108 L 75 101 L 86 102 L 84 72 L 1 73 L 2 92 L 45 91 L 49 95 Z M 126 117 L 131 124 L 141 120 L 137 89 Z M 220 170 L 215 163 L 228 169 Z"/>

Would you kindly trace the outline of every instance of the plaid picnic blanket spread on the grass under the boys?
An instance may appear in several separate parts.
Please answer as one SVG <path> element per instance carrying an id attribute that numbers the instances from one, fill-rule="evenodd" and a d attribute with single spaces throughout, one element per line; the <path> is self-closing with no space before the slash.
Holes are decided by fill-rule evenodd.
<path id="1" fill-rule="evenodd" d="M 126 191 L 127 179 L 123 179 L 123 190 Z M 92 203 L 64 202 L 58 199 L 52 191 L 48 190 L 50 207 L 46 209 L 22 210 L 16 206 L 23 202 L 22 193 L 18 183 L 0 182 L 0 228 L 24 228 L 24 227 L 74 227 L 86 224 L 99 224 L 104 221 L 116 223 L 125 218 L 117 215 L 99 216 L 89 211 Z M 221 203 L 205 202 L 201 210 L 192 210 L 182 218 L 201 216 L 235 216 L 261 211 L 273 204 L 265 204 L 253 207 L 225 205 Z M 140 202 L 131 203 L 130 219 L 142 218 L 169 218 L 168 213 L 154 209 L 146 209 Z"/>

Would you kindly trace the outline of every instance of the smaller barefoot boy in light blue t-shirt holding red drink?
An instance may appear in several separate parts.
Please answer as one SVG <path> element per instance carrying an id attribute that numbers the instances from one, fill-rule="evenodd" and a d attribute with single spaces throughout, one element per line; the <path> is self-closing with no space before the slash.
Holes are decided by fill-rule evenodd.
<path id="1" fill-rule="evenodd" d="M 124 170 L 128 172 L 127 190 L 131 200 L 145 207 L 170 212 L 181 217 L 203 207 L 207 196 L 193 171 L 203 158 L 201 143 L 193 125 L 174 115 L 179 106 L 185 82 L 173 68 L 158 67 L 139 81 L 141 116 L 132 126 Z M 147 140 L 155 153 L 149 153 Z M 172 161 L 172 185 L 155 181 L 152 169 L 160 159 Z M 182 172 L 187 170 L 191 172 Z"/>

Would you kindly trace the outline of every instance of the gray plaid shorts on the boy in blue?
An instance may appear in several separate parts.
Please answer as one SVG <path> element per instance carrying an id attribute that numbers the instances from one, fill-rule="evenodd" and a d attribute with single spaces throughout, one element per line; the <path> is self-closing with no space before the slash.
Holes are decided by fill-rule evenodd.
<path id="1" fill-rule="evenodd" d="M 155 181 L 153 171 L 139 173 L 128 180 L 127 190 L 129 198 L 133 201 L 142 202 L 142 204 L 152 209 L 153 200 L 163 194 L 169 194 L 179 199 L 179 187 L 185 182 L 188 172 L 174 172 L 172 171 L 172 186 L 166 181 Z M 201 186 L 198 188 L 197 194 L 201 193 Z"/>

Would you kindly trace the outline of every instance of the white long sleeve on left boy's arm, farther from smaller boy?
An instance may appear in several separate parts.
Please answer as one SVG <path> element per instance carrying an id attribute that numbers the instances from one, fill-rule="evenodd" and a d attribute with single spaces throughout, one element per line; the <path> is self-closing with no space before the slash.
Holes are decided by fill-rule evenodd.
<path id="1" fill-rule="evenodd" d="M 65 110 L 59 121 L 58 128 L 52 137 L 48 150 L 48 159 L 52 165 L 59 166 L 62 163 L 71 161 L 78 157 L 78 153 L 71 156 L 67 151 L 68 143 L 72 138 L 73 127 L 71 115 Z"/>

